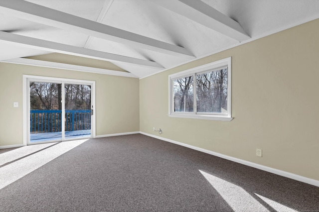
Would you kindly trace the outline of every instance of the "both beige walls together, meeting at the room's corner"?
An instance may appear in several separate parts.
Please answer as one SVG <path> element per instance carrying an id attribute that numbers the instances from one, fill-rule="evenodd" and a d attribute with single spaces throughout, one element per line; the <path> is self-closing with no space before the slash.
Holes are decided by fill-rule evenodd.
<path id="1" fill-rule="evenodd" d="M 0 63 L 0 146 L 22 144 L 23 74 L 93 80 L 97 135 L 142 131 L 319 180 L 318 25 L 315 20 L 140 81 Z M 227 57 L 234 119 L 168 117 L 168 75 Z"/>

